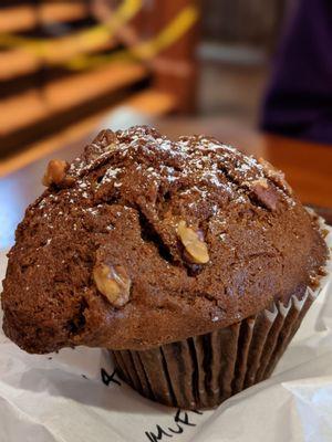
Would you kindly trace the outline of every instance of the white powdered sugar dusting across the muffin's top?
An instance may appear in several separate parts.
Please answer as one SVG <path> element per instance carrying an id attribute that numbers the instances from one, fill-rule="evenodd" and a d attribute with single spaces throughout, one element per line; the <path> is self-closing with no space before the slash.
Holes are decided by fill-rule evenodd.
<path id="1" fill-rule="evenodd" d="M 117 131 L 114 143 L 107 146 L 93 143 L 72 162 L 69 175 L 75 178 L 74 185 L 62 192 L 70 211 L 77 217 L 80 213 L 98 217 L 103 203 L 95 206 L 96 196 L 113 191 L 115 199 L 122 198 L 131 190 L 134 177 L 138 191 L 144 193 L 142 197 L 152 203 L 156 204 L 158 193 L 164 192 L 168 200 L 187 201 L 181 210 L 188 208 L 196 213 L 205 203 L 208 217 L 219 218 L 227 201 L 239 206 L 250 203 L 248 183 L 267 178 L 256 158 L 214 138 L 187 136 L 173 141 L 146 127 Z M 282 190 L 278 192 L 290 207 L 294 204 Z M 51 211 L 64 221 L 71 219 L 70 211 L 62 213 L 56 209 L 54 193 L 45 196 L 35 208 L 45 223 Z M 113 227 L 105 229 L 112 231 Z"/>

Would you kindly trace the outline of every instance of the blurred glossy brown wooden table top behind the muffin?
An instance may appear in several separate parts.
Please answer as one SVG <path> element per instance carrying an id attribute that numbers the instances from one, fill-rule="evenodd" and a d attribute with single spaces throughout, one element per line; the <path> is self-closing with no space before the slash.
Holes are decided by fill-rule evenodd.
<path id="1" fill-rule="evenodd" d="M 304 203 L 319 206 L 325 218 L 332 210 L 332 146 L 267 136 L 234 120 L 220 118 L 168 118 L 156 123 L 172 138 L 178 135 L 207 134 L 241 150 L 264 157 L 282 169 Z M 43 190 L 41 177 L 50 158 L 72 159 L 87 139 L 65 146 L 0 179 L 0 249 L 12 244 L 13 232 L 25 207 Z M 332 217 L 330 218 L 332 221 Z"/>

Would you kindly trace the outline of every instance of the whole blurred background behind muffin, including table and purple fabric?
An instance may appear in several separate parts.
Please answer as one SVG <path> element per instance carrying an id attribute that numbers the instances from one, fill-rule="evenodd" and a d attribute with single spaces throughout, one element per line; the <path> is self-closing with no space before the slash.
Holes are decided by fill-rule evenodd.
<path id="1" fill-rule="evenodd" d="M 51 158 L 134 124 L 264 157 L 332 222 L 331 48 L 330 0 L 1 0 L 0 248 Z"/>

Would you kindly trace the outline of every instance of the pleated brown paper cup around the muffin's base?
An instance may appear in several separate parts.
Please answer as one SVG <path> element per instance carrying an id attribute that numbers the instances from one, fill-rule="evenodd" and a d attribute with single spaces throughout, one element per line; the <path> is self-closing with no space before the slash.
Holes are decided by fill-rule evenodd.
<path id="1" fill-rule="evenodd" d="M 111 351 L 141 394 L 183 409 L 214 408 L 271 376 L 319 291 L 229 327 L 143 351 Z"/>

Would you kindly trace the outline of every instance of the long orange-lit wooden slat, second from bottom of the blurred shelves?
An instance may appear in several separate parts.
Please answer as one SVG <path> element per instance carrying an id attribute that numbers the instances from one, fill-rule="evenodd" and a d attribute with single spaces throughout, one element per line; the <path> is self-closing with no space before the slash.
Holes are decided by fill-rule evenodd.
<path id="1" fill-rule="evenodd" d="M 138 63 L 113 63 L 96 71 L 54 81 L 42 90 L 29 90 L 3 99 L 0 102 L 0 134 L 8 135 L 70 110 L 89 99 L 135 84 L 147 74 L 147 70 Z"/>

